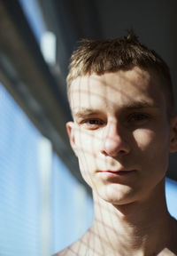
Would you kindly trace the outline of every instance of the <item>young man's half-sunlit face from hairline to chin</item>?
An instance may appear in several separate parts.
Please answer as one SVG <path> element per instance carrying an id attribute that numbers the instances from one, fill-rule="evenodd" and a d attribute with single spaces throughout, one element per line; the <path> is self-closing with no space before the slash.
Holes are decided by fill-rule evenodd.
<path id="1" fill-rule="evenodd" d="M 172 129 L 164 92 L 140 68 L 78 77 L 67 124 L 81 174 L 102 199 L 127 204 L 161 186 Z"/>

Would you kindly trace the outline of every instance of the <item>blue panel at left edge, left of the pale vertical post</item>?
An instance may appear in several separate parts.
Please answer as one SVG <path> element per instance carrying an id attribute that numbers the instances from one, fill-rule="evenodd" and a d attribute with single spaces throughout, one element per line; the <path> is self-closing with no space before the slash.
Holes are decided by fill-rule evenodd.
<path id="1" fill-rule="evenodd" d="M 41 134 L 0 84 L 0 255 L 40 255 Z"/>

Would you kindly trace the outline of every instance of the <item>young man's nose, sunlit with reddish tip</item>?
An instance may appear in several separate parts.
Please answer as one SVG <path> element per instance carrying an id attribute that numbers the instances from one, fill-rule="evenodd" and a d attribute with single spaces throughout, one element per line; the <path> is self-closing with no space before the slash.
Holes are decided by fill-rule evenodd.
<path id="1" fill-rule="evenodd" d="M 117 122 L 111 122 L 105 128 L 102 140 L 102 154 L 105 156 L 123 156 L 130 151 L 127 143 L 126 128 L 120 127 Z"/>

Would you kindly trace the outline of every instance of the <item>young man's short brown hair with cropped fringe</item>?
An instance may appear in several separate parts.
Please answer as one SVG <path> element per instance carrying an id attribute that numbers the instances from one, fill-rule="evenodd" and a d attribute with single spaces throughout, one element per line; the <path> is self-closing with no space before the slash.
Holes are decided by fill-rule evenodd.
<path id="1" fill-rule="evenodd" d="M 103 75 L 105 72 L 129 70 L 134 67 L 155 71 L 164 85 L 167 111 L 173 112 L 173 84 L 170 71 L 165 61 L 157 52 L 141 44 L 134 32 L 128 36 L 111 40 L 93 41 L 82 39 L 73 52 L 69 73 L 66 78 L 67 91 L 78 76 L 89 76 L 93 73 Z"/>

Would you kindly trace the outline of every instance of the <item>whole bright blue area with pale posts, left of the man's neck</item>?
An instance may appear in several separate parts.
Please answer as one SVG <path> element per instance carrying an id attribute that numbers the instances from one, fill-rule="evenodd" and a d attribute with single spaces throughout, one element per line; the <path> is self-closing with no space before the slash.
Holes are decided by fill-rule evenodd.
<path id="1" fill-rule="evenodd" d="M 0 134 L 0 255 L 58 252 L 89 228 L 92 200 L 2 84 Z"/>

